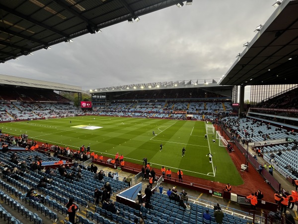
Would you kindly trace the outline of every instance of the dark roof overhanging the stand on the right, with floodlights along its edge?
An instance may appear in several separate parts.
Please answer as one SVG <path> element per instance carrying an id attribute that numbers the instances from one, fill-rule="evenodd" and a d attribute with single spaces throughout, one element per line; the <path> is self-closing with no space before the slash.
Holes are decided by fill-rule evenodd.
<path id="1" fill-rule="evenodd" d="M 240 53 L 220 84 L 296 84 L 297 74 L 298 0 L 283 0 Z"/>

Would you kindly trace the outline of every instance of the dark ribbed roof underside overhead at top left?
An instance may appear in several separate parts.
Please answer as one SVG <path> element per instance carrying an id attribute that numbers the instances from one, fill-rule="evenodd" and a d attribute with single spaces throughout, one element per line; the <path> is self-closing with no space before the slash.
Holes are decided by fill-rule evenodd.
<path id="1" fill-rule="evenodd" d="M 0 2 L 0 62 L 186 0 L 4 0 Z M 191 0 L 189 0 L 190 4 Z"/>

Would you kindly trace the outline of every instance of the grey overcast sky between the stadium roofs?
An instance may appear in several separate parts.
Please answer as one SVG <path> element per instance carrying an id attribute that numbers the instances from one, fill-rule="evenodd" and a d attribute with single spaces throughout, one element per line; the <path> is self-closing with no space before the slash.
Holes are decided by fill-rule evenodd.
<path id="1" fill-rule="evenodd" d="M 83 90 L 159 81 L 220 79 L 275 0 L 193 0 L 0 64 L 4 75 Z"/>

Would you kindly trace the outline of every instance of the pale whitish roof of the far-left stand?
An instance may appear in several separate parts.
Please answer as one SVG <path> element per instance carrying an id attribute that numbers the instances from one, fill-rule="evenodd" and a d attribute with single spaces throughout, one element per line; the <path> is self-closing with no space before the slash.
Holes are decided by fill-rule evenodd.
<path id="1" fill-rule="evenodd" d="M 1 75 L 1 74 L 0 74 L 0 84 L 17 86 L 17 87 L 30 87 L 30 88 L 67 91 L 67 92 L 75 92 L 75 93 L 84 92 L 82 91 L 82 88 L 79 86 L 46 82 L 46 81 L 40 81 L 40 80 L 34 80 L 34 79 L 26 79 L 26 78 L 7 76 L 7 75 Z"/>

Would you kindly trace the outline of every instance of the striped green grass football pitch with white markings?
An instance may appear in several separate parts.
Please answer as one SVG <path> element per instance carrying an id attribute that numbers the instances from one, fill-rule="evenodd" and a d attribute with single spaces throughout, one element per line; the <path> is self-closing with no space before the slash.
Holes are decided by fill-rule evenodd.
<path id="1" fill-rule="evenodd" d="M 90 145 L 91 151 L 111 158 L 119 152 L 124 155 L 124 161 L 138 164 L 143 164 L 143 158 L 147 157 L 151 167 L 170 168 L 174 178 L 181 169 L 185 175 L 234 186 L 243 184 L 225 147 L 219 146 L 216 135 L 208 134 L 205 139 L 204 121 L 76 116 L 0 123 L 0 129 L 2 133 L 15 136 L 27 133 L 29 139 L 60 147 L 78 149 L 83 144 Z M 186 149 L 184 157 L 183 147 Z M 208 153 L 213 155 L 212 163 Z"/>

